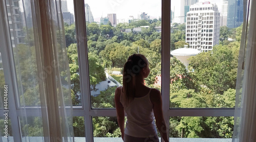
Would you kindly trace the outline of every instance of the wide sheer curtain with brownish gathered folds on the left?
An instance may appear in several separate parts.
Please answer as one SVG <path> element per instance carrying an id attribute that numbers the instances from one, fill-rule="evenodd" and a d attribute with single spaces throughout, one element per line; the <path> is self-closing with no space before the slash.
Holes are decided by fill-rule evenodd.
<path id="1" fill-rule="evenodd" d="M 10 63 L 14 66 L 10 74 L 15 93 L 9 96 L 15 103 L 9 104 L 10 113 L 18 117 L 10 118 L 11 124 L 18 125 L 10 124 L 13 133 L 9 132 L 9 136 L 14 141 L 74 141 L 61 1 L 3 0 L 0 3 L 6 7 L 4 17 L 9 21 L 4 25 L 9 33 L 5 38 L 11 41 L 9 47 L 3 48 L 10 51 L 7 56 L 13 58 Z M 17 139 L 15 135 L 19 134 Z"/>

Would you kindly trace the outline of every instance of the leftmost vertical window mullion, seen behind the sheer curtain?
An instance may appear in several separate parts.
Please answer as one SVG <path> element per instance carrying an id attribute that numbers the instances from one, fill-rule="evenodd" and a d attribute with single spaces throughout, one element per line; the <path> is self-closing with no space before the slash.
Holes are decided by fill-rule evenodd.
<path id="1" fill-rule="evenodd" d="M 17 94 L 17 84 L 15 78 L 15 67 L 14 67 L 14 58 L 12 54 L 12 44 L 10 39 L 10 31 L 8 27 L 8 19 L 6 12 L 6 4 L 5 1 L 0 2 L 0 48 L 2 52 L 2 60 L 5 74 L 5 83 L 8 85 L 8 108 L 9 113 L 8 117 L 11 118 L 11 127 L 13 140 L 21 141 L 21 133 L 19 131 L 19 121 L 16 113 L 16 104 L 15 103 L 15 94 Z M 4 114 L 4 113 L 2 113 Z M 9 125 L 10 127 L 10 125 Z"/>

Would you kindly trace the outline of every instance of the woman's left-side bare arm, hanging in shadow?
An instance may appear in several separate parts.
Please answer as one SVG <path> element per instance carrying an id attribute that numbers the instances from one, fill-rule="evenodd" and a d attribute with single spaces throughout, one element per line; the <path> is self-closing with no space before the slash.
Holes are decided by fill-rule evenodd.
<path id="1" fill-rule="evenodd" d="M 122 139 L 124 136 L 124 109 L 120 103 L 121 87 L 116 88 L 115 91 L 115 104 L 116 104 L 116 113 L 117 113 L 117 122 L 121 130 Z"/>

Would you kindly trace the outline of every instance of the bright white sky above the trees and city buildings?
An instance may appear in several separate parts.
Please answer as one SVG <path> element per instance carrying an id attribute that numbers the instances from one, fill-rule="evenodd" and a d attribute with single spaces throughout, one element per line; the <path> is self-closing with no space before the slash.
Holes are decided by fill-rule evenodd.
<path id="1" fill-rule="evenodd" d="M 210 2 L 218 5 L 221 10 L 222 0 L 199 0 L 199 2 Z M 74 13 L 73 0 L 67 0 L 68 10 Z M 129 16 L 138 18 L 138 14 L 145 12 L 151 18 L 161 17 L 161 0 L 84 0 L 90 6 L 95 21 L 107 14 L 116 13 L 117 19 L 125 19 Z M 180 15 L 180 0 L 171 0 L 171 9 L 175 9 L 175 16 Z"/>

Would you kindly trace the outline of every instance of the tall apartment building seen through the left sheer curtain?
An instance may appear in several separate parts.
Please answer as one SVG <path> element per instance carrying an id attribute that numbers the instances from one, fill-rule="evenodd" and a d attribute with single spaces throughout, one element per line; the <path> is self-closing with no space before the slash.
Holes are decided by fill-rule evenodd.
<path id="1" fill-rule="evenodd" d="M 25 35 L 23 31 L 23 14 L 20 11 L 19 0 L 6 1 L 12 47 L 24 43 Z"/>

